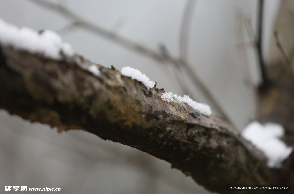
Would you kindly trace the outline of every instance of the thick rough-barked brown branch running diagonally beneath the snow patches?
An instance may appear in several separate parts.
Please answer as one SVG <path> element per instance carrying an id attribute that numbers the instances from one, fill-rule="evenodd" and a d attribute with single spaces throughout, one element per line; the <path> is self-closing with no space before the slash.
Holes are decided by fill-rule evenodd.
<path id="1" fill-rule="evenodd" d="M 218 193 L 225 185 L 272 185 L 281 171 L 230 124 L 187 104 L 165 102 L 164 89 L 101 65 L 101 75 L 81 56 L 61 61 L 0 45 L 0 108 L 31 122 L 82 129 L 168 161 Z M 284 183 L 284 182 L 283 182 Z"/>

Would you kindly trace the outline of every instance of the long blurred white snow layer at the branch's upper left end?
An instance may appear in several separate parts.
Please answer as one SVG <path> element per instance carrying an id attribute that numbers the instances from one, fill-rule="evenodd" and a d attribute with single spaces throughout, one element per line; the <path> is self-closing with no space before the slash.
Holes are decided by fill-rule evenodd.
<path id="1" fill-rule="evenodd" d="M 63 42 L 61 36 L 54 31 L 45 30 L 43 33 L 38 33 L 31 28 L 18 28 L 1 18 L 0 42 L 2 45 L 11 45 L 30 53 L 41 53 L 56 60 L 62 59 L 61 52 L 67 56 L 74 54 L 72 46 Z"/>

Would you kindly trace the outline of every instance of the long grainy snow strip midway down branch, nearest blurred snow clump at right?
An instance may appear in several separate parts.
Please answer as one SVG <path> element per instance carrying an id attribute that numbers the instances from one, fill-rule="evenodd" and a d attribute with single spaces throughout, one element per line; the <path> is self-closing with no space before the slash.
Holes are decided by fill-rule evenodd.
<path id="1" fill-rule="evenodd" d="M 210 106 L 204 103 L 195 102 L 190 98 L 190 96 L 184 95 L 182 98 L 176 94 L 173 95 L 172 92 L 164 92 L 161 96 L 161 99 L 167 102 L 176 102 L 176 103 L 187 103 L 193 109 L 198 110 L 204 115 L 210 116 L 212 114 Z"/>

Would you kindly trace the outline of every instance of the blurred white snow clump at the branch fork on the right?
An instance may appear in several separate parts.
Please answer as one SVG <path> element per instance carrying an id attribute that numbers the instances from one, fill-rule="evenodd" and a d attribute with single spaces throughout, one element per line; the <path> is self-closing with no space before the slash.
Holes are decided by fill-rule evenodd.
<path id="1" fill-rule="evenodd" d="M 266 123 L 264 125 L 257 121 L 248 124 L 242 131 L 244 139 L 250 141 L 260 149 L 268 158 L 268 167 L 280 168 L 282 162 L 292 152 L 292 147 L 280 140 L 284 135 L 284 128 L 280 124 Z"/>

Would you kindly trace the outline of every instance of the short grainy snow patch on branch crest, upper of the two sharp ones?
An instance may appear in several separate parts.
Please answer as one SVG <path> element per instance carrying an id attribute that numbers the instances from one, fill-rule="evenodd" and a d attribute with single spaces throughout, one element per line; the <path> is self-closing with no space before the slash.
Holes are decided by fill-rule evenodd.
<path id="1" fill-rule="evenodd" d="M 150 88 L 153 88 L 155 85 L 155 82 L 150 81 L 149 77 L 147 77 L 145 74 L 142 74 L 141 71 L 137 69 L 131 67 L 123 67 L 121 68 L 121 73 L 128 77 L 132 77 L 132 79 L 134 80 L 142 82 L 148 90 L 150 90 Z"/>

